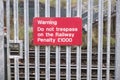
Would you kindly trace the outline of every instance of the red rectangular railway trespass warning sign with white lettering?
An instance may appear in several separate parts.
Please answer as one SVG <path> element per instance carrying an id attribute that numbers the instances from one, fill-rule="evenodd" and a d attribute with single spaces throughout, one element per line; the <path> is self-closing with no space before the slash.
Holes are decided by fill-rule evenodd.
<path id="1" fill-rule="evenodd" d="M 81 45 L 81 18 L 43 18 L 33 19 L 34 45 Z"/>

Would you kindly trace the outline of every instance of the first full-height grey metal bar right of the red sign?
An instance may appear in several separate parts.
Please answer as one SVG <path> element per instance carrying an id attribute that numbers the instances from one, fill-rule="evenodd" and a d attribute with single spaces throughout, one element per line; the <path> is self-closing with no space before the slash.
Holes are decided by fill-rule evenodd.
<path id="1" fill-rule="evenodd" d="M 92 68 L 92 11 L 93 0 L 88 0 L 88 32 L 87 32 L 87 80 L 91 80 Z"/>

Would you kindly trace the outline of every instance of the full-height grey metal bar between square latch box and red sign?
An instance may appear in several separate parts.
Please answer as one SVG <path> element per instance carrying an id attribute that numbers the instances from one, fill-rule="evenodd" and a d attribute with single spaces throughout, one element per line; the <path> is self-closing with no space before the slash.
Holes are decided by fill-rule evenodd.
<path id="1" fill-rule="evenodd" d="M 25 80 L 29 80 L 29 0 L 24 0 Z"/>

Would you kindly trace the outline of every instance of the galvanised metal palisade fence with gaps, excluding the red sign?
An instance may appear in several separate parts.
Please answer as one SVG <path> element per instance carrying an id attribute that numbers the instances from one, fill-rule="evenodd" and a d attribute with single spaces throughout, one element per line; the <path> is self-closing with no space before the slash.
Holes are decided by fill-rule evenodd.
<path id="1" fill-rule="evenodd" d="M 76 3 L 72 3 L 73 1 Z M 7 50 L 5 53 L 7 73 L 0 73 L 0 80 L 4 80 L 3 76 L 6 74 L 6 80 L 120 79 L 118 24 L 120 12 L 118 10 L 116 24 L 116 0 L 66 0 L 64 6 L 62 0 L 55 0 L 54 6 L 50 0 L 45 0 L 44 3 L 40 0 L 1 0 L 0 4 L 2 2 L 4 8 L 1 7 L 0 11 L 3 9 L 5 11 L 5 24 L 1 21 L 3 20 L 1 11 L 0 33 L 3 32 L 1 31 L 3 24 L 7 28 L 7 33 L 4 36 L 3 33 L 2 36 L 0 34 L 2 51 L 0 54 L 3 57 L 1 45 L 3 41 L 7 41 L 7 44 L 4 44 L 7 45 L 4 48 L 5 52 Z M 120 3 L 119 0 L 118 2 Z M 41 13 L 44 13 L 42 17 L 81 17 L 83 45 L 34 46 L 31 19 L 41 17 Z M 4 58 L 0 60 L 2 62 L 0 64 L 3 65 Z M 0 68 L 2 69 L 0 71 L 4 72 L 4 68 L 2 66 Z"/>

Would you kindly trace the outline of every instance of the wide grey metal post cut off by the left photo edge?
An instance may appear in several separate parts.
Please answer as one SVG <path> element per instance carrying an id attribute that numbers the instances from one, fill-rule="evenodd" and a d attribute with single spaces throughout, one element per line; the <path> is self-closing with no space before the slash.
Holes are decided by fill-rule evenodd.
<path id="1" fill-rule="evenodd" d="M 3 0 L 0 0 L 0 80 L 4 80 L 4 77 L 5 77 L 3 14 L 4 14 Z"/>

